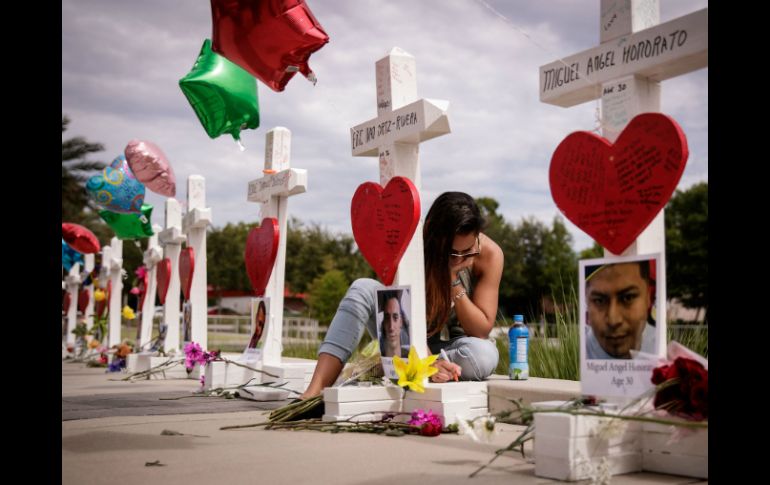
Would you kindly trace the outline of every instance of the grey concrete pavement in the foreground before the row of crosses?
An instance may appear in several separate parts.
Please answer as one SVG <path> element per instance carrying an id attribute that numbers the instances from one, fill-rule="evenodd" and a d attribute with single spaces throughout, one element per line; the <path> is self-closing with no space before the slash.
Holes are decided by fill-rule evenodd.
<path id="1" fill-rule="evenodd" d="M 495 450 L 512 442 L 523 429 L 520 426 L 499 425 L 499 434 L 490 444 L 455 434 L 388 437 L 266 431 L 261 427 L 223 431 L 222 426 L 264 422 L 264 409 L 282 403 L 222 398 L 160 400 L 190 393 L 199 387 L 198 382 L 109 380 L 122 376 L 83 364 L 62 363 L 63 484 L 563 483 L 535 477 L 529 455 L 531 442 L 525 449 L 527 459 L 506 454 L 475 478 L 468 478 L 494 456 Z M 162 435 L 164 430 L 183 435 Z M 146 465 L 153 462 L 162 466 Z M 615 476 L 612 483 L 707 482 L 635 473 Z"/>

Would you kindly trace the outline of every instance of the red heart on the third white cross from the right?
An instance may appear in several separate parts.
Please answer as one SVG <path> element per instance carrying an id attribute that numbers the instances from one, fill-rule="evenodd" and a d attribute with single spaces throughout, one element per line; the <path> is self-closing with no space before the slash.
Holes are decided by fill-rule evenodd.
<path id="1" fill-rule="evenodd" d="M 249 231 L 246 239 L 246 273 L 251 280 L 254 294 L 263 296 L 265 287 L 273 272 L 275 257 L 278 254 L 278 221 L 273 217 L 262 219 L 262 224 Z"/>

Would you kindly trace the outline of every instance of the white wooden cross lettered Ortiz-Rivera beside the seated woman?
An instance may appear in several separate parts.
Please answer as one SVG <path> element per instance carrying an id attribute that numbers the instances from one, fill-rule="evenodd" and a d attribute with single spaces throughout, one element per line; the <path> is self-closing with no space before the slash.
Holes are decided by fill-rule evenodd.
<path id="1" fill-rule="evenodd" d="M 417 99 L 414 56 L 394 47 L 375 64 L 377 117 L 350 129 L 354 156 L 379 156 L 380 185 L 406 177 L 420 190 L 420 142 L 450 132 L 449 101 Z M 394 285 L 412 287 L 409 338 L 420 357 L 429 354 L 425 322 L 422 220 L 398 265 Z"/>

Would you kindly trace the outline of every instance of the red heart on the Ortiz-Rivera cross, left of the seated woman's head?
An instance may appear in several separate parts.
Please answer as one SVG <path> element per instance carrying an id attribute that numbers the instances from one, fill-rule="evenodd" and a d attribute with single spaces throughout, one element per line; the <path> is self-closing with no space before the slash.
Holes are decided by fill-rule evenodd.
<path id="1" fill-rule="evenodd" d="M 411 180 L 393 177 L 358 186 L 350 205 L 353 237 L 364 259 L 385 285 L 393 283 L 398 263 L 420 221 L 420 194 Z"/>

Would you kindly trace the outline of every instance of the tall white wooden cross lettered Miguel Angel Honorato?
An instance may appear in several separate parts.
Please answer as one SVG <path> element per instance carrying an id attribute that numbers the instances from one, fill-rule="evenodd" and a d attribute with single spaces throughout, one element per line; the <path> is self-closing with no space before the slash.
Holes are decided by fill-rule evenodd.
<path id="1" fill-rule="evenodd" d="M 708 8 L 660 24 L 658 0 L 601 0 L 600 16 L 599 47 L 540 67 L 540 101 L 601 98 L 602 136 L 615 141 L 634 116 L 660 111 L 660 81 L 708 66 Z M 622 256 L 661 253 L 665 262 L 663 221 L 660 211 Z"/>

